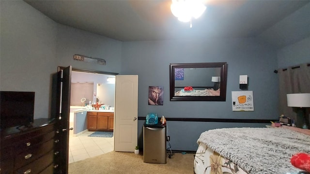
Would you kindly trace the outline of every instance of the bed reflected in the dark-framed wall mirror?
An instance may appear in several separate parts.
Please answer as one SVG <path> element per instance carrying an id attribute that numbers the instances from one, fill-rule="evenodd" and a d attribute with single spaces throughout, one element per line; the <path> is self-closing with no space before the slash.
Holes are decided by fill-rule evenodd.
<path id="1" fill-rule="evenodd" d="M 213 89 L 204 89 L 204 90 L 190 90 L 186 91 L 184 89 L 181 89 L 174 93 L 175 96 L 219 96 L 219 89 L 213 90 Z"/>

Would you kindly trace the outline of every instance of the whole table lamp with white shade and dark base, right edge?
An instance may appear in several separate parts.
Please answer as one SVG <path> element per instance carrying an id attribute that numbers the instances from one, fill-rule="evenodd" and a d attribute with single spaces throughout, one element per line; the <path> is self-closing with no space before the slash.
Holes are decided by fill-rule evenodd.
<path id="1" fill-rule="evenodd" d="M 295 93 L 286 94 L 287 106 L 296 107 L 297 109 L 297 120 L 295 125 L 298 128 L 308 129 L 306 123 L 306 108 L 310 107 L 310 93 Z"/>

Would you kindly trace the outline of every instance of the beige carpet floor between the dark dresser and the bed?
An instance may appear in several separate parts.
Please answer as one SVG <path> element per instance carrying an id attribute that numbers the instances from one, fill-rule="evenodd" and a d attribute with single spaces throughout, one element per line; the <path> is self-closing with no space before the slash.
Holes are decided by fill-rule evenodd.
<path id="1" fill-rule="evenodd" d="M 175 153 L 167 164 L 143 162 L 143 152 L 109 152 L 69 164 L 68 174 L 194 174 L 194 154 Z"/>

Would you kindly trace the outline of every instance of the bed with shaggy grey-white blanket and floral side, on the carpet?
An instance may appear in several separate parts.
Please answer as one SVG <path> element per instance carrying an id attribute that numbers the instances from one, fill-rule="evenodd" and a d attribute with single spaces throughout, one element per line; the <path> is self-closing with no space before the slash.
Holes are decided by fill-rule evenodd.
<path id="1" fill-rule="evenodd" d="M 310 153 L 310 130 L 293 129 L 224 128 L 205 131 L 197 140 L 199 146 L 194 172 L 302 174 L 290 160 L 295 153 Z"/>

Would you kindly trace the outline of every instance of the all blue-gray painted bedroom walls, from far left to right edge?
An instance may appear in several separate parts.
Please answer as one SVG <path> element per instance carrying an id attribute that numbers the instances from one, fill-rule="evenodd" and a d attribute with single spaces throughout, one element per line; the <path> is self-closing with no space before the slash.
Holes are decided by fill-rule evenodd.
<path id="1" fill-rule="evenodd" d="M 51 75 L 57 66 L 139 75 L 139 116 L 276 119 L 279 67 L 309 61 L 309 38 L 280 49 L 254 38 L 186 41 L 120 42 L 57 24 L 24 1 L 0 1 L 0 90 L 34 91 L 35 118 L 49 117 Z M 291 20 L 289 17 L 288 19 Z M 294 18 L 292 19 L 294 20 Z M 106 66 L 73 60 L 74 54 L 104 58 Z M 170 102 L 169 64 L 227 62 L 226 102 Z M 247 74 L 254 112 L 232 112 L 231 91 Z M 148 87 L 164 87 L 164 105 L 147 104 Z M 139 144 L 142 126 L 139 120 Z M 264 124 L 168 122 L 174 150 L 197 149 L 203 131 L 222 127 L 263 127 Z"/>

